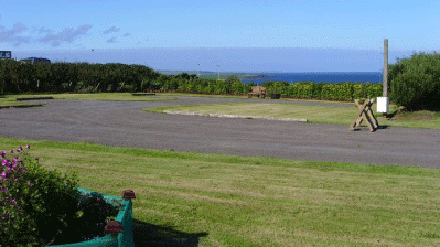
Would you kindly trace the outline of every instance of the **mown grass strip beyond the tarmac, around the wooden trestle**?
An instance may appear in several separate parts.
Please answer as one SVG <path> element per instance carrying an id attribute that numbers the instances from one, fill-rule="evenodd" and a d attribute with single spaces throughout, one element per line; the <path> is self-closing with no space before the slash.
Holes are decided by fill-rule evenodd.
<path id="1" fill-rule="evenodd" d="M 283 101 L 268 103 L 226 103 L 210 105 L 180 105 L 163 106 L 144 109 L 150 112 L 172 111 L 198 111 L 204 114 L 225 114 L 259 117 L 280 117 L 307 119 L 311 124 L 350 125 L 355 119 L 358 108 L 353 103 L 352 108 L 335 106 L 314 106 L 304 104 L 287 104 Z M 397 111 L 396 106 L 390 106 L 390 111 Z M 376 105 L 373 105 L 376 112 Z M 407 128 L 440 129 L 440 116 L 431 111 L 398 112 L 395 120 L 387 120 L 380 114 L 375 114 L 382 126 L 395 126 Z"/>

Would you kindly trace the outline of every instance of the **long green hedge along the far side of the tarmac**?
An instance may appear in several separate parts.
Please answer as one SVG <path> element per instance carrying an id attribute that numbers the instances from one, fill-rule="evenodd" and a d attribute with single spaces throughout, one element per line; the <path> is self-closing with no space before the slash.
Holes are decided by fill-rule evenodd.
<path id="1" fill-rule="evenodd" d="M 267 82 L 262 85 L 268 94 L 293 98 L 353 100 L 382 95 L 382 84 Z M 164 75 L 142 65 L 0 61 L 0 94 L 176 90 L 246 95 L 253 86 L 242 83 L 238 76 L 216 80 L 186 73 Z"/>

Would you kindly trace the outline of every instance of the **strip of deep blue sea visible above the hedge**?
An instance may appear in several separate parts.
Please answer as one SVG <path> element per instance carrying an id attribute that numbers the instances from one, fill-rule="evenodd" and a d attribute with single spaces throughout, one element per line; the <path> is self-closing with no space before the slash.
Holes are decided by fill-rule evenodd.
<path id="1" fill-rule="evenodd" d="M 256 85 L 265 82 L 364 83 L 380 84 L 382 72 L 307 72 L 307 73 L 255 73 L 245 76 L 243 83 Z"/>

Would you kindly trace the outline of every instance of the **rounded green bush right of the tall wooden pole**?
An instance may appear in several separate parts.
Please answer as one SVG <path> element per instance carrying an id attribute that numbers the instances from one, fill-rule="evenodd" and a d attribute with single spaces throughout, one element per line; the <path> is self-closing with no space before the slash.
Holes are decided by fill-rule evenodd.
<path id="1" fill-rule="evenodd" d="M 440 54 L 415 53 L 389 66 L 390 99 L 407 110 L 438 110 Z"/>

